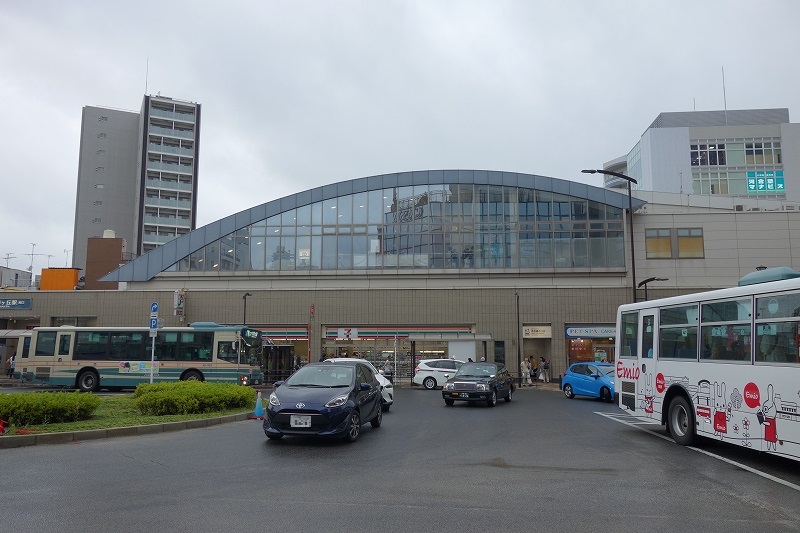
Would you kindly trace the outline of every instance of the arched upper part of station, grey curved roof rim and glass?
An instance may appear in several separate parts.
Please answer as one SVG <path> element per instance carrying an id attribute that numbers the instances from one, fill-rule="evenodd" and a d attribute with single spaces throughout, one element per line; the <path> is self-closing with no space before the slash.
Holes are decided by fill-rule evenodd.
<path id="1" fill-rule="evenodd" d="M 333 183 L 177 237 L 102 281 L 162 272 L 624 267 L 628 196 L 557 178 L 426 170 Z M 634 209 L 645 204 L 632 199 Z"/>

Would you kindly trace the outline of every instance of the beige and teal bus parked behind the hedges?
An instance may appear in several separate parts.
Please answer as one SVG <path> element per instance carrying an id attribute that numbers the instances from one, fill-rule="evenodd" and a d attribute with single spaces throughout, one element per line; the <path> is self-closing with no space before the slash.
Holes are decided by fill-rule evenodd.
<path id="1" fill-rule="evenodd" d="M 23 380 L 86 392 L 133 388 L 151 374 L 154 382 L 258 385 L 262 354 L 258 330 L 212 322 L 160 328 L 155 338 L 147 327 L 40 327 L 17 343 L 16 368 Z"/>

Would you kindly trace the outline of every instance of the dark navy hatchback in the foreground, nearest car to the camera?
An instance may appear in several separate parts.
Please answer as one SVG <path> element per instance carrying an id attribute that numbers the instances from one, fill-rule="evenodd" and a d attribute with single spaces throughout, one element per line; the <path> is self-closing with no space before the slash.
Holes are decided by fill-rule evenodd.
<path id="1" fill-rule="evenodd" d="M 362 363 L 312 363 L 275 383 L 265 414 L 269 439 L 320 435 L 353 442 L 362 424 L 380 427 L 381 387 Z"/>

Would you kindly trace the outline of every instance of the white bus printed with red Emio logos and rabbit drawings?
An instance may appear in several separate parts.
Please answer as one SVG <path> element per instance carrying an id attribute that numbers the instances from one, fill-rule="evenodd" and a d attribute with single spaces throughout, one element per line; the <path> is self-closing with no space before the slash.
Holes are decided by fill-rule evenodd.
<path id="1" fill-rule="evenodd" d="M 617 404 L 667 426 L 800 459 L 800 278 L 748 274 L 738 287 L 620 306 Z M 754 284 L 748 284 L 754 283 Z"/>

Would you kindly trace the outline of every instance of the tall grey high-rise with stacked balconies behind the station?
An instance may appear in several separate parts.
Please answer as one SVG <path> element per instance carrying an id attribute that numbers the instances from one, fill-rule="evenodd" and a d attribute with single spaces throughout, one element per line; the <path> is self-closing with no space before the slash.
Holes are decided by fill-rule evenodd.
<path id="1" fill-rule="evenodd" d="M 72 265 L 113 230 L 139 255 L 195 228 L 200 104 L 146 95 L 139 113 L 83 108 Z"/>

